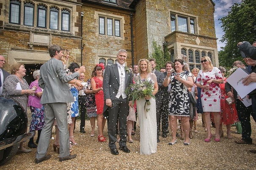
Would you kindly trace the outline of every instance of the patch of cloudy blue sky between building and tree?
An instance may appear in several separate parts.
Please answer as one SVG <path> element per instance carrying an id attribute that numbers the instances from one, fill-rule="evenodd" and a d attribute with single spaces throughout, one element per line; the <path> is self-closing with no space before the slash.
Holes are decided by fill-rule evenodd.
<path id="1" fill-rule="evenodd" d="M 224 33 L 221 28 L 222 24 L 218 19 L 228 15 L 228 11 L 230 11 L 230 7 L 234 3 L 241 3 L 241 0 L 212 0 L 212 1 L 215 3 L 215 13 L 214 13 L 215 32 L 216 32 L 216 38 L 218 38 L 217 49 L 218 51 L 220 51 L 221 50 L 220 47 L 224 47 L 225 43 L 220 42 L 220 39 Z"/>

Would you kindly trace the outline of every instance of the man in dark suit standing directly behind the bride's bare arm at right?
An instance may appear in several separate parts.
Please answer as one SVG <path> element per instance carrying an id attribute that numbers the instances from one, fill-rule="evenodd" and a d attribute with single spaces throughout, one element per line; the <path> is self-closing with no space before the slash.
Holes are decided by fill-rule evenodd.
<path id="1" fill-rule="evenodd" d="M 160 142 L 159 136 L 160 136 L 160 110 L 161 110 L 161 103 L 162 103 L 162 99 L 161 99 L 161 90 L 162 89 L 162 82 L 164 81 L 164 74 L 161 73 L 160 71 L 156 70 L 155 67 L 157 66 L 156 63 L 156 59 L 151 58 L 149 59 L 149 62 L 152 66 L 152 73 L 154 73 L 157 76 L 157 85 L 158 85 L 158 92 L 157 94 L 155 94 L 155 98 L 156 98 L 156 114 L 157 114 L 157 143 Z"/>

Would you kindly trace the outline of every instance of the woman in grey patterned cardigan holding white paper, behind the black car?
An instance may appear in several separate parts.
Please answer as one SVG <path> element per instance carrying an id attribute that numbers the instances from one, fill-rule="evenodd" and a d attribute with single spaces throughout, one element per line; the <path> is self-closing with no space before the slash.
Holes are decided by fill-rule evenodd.
<path id="1" fill-rule="evenodd" d="M 35 94 L 35 90 L 29 89 L 27 81 L 23 78 L 25 75 L 25 65 L 21 63 L 11 65 L 11 75 L 7 76 L 3 83 L 3 96 L 16 100 L 27 113 L 28 95 Z M 18 152 L 28 153 L 30 151 L 24 148 L 23 142 L 20 143 Z"/>

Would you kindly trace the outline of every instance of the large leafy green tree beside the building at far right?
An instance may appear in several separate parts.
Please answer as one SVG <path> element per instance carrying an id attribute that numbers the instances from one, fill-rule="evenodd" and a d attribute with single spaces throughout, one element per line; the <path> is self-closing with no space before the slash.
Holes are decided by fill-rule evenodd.
<path id="1" fill-rule="evenodd" d="M 219 63 L 231 67 L 236 60 L 242 60 L 237 43 L 256 40 L 256 0 L 242 0 L 234 3 L 227 16 L 219 19 L 222 22 L 224 35 L 220 39 L 226 46 L 218 52 Z"/>

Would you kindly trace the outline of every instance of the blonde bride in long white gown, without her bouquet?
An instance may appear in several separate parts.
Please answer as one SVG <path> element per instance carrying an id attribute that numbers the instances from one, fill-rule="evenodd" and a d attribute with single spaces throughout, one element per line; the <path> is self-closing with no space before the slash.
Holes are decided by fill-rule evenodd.
<path id="1" fill-rule="evenodd" d="M 155 95 L 158 91 L 157 77 L 154 73 L 151 73 L 151 65 L 147 59 L 140 59 L 138 67 L 139 76 L 136 76 L 135 80 L 148 79 L 154 82 Z M 145 111 L 144 105 L 146 100 L 150 101 L 150 108 Z M 145 97 L 136 101 L 139 125 L 140 125 L 140 154 L 150 155 L 157 152 L 157 116 L 156 116 L 156 101 L 152 97 Z"/>

